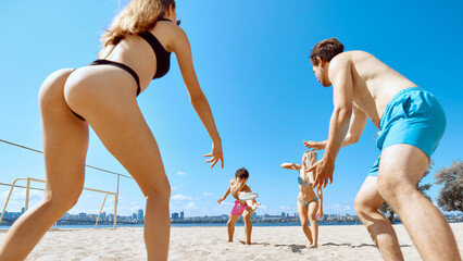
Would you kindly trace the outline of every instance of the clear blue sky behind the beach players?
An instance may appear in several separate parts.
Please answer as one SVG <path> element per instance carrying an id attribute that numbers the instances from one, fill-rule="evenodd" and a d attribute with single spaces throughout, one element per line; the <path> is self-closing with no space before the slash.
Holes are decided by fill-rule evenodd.
<path id="1" fill-rule="evenodd" d="M 125 3 L 0 3 L 0 139 L 42 149 L 40 84 L 58 69 L 93 61 L 103 28 Z M 216 200 L 241 166 L 250 172 L 248 185 L 260 194 L 263 206 L 258 214 L 297 212 L 297 172 L 279 165 L 300 163 L 302 140 L 327 138 L 331 88 L 316 82 L 309 52 L 329 37 L 337 37 L 346 50 L 373 53 L 434 92 L 448 119 L 433 157 L 435 170 L 463 158 L 462 1 L 178 0 L 177 13 L 223 139 L 225 169 L 211 170 L 203 162 L 211 140 L 189 102 L 173 55 L 171 72 L 138 98 L 173 188 L 172 212 L 228 214 L 232 197 L 222 206 Z M 355 194 L 379 153 L 375 132 L 368 121 L 361 140 L 341 150 L 334 184 L 325 189 L 325 213 L 354 213 Z M 95 134 L 87 163 L 128 175 Z M 434 173 L 426 182 L 434 183 Z M 45 177 L 41 154 L 0 144 L 0 183 L 26 176 Z M 115 191 L 116 178 L 87 170 L 85 186 Z M 0 186 L 0 206 L 8 189 Z M 437 185 L 430 189 L 433 200 L 438 189 Z M 17 190 L 8 211 L 18 211 L 24 195 Z M 34 192 L 33 203 L 40 197 Z M 101 195 L 84 192 L 71 213 L 96 213 L 102 200 Z M 138 208 L 145 209 L 142 194 L 134 181 L 122 178 L 118 213 L 128 215 Z M 111 206 L 105 210 L 112 212 Z"/>

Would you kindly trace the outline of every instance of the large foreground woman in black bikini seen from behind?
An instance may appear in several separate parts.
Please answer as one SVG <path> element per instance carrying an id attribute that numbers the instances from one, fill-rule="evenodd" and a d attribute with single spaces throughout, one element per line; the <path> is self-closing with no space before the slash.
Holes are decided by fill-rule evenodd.
<path id="1" fill-rule="evenodd" d="M 175 52 L 191 103 L 213 141 L 207 162 L 223 167 L 222 141 L 198 83 L 174 0 L 133 0 L 102 36 L 100 60 L 52 73 L 42 84 L 47 186 L 43 200 L 10 228 L 0 260 L 23 260 L 49 227 L 77 201 L 84 186 L 88 125 L 135 178 L 147 199 L 148 260 L 167 260 L 171 186 L 154 137 L 137 104 L 152 78 L 162 77 Z M 154 77 L 153 77 L 154 75 Z"/>

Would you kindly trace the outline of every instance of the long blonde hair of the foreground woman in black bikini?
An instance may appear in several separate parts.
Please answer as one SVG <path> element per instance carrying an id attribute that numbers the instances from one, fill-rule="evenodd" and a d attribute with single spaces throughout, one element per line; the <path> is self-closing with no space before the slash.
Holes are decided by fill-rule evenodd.
<path id="1" fill-rule="evenodd" d="M 175 0 L 132 0 L 101 36 L 103 48 L 116 46 L 127 36 L 148 32 L 171 4 L 175 8 Z"/>

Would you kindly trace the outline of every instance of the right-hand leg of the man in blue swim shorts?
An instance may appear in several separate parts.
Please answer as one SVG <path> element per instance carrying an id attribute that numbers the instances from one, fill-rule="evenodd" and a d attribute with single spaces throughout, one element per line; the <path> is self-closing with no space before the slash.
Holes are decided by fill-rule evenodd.
<path id="1" fill-rule="evenodd" d="M 416 190 L 429 164 L 421 149 L 405 144 L 383 150 L 378 191 L 398 213 L 424 260 L 461 260 L 446 217 Z"/>

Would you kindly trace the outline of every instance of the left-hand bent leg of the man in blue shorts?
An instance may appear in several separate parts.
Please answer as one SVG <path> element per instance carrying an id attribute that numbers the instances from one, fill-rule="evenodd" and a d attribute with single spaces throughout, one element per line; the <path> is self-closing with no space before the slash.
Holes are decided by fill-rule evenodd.
<path id="1" fill-rule="evenodd" d="M 396 232 L 378 209 L 384 199 L 378 194 L 376 176 L 367 176 L 355 197 L 355 212 L 366 226 L 385 260 L 403 260 Z"/>

